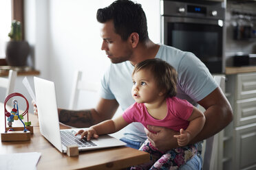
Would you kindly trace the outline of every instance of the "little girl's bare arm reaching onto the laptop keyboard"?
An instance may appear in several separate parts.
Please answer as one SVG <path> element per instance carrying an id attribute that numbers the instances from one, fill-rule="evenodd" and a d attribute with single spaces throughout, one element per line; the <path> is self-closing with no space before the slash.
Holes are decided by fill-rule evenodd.
<path id="1" fill-rule="evenodd" d="M 122 115 L 113 120 L 103 121 L 96 125 L 89 127 L 87 130 L 79 130 L 77 134 L 81 134 L 81 138 L 87 136 L 87 140 L 89 141 L 92 137 L 98 138 L 100 134 L 112 134 L 114 132 L 118 132 L 123 127 L 127 126 L 129 123 L 122 118 Z"/>

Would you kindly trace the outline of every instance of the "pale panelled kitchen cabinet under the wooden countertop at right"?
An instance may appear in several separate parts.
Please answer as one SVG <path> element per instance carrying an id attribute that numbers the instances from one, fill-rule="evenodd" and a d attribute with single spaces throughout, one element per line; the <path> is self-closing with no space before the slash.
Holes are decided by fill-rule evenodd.
<path id="1" fill-rule="evenodd" d="M 222 169 L 256 169 L 256 72 L 226 78 L 234 119 L 224 129 Z"/>

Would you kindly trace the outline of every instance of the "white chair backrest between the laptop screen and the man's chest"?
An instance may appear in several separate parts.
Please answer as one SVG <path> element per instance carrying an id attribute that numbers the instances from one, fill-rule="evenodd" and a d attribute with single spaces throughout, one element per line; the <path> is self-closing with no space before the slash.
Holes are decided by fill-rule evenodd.
<path id="1" fill-rule="evenodd" d="M 92 91 L 92 92 L 97 93 L 99 90 L 100 86 L 98 83 L 82 81 L 81 80 L 82 75 L 83 75 L 83 73 L 81 71 L 76 71 L 76 73 L 74 75 L 74 82 L 73 82 L 73 86 L 72 86 L 69 109 L 76 108 L 76 105 L 78 103 L 79 91 L 85 90 L 85 91 Z"/>

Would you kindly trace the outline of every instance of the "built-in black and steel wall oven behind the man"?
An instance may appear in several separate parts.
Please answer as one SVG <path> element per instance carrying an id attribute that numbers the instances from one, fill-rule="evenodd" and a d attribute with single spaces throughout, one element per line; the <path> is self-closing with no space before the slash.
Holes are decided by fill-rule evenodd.
<path id="1" fill-rule="evenodd" d="M 202 0 L 160 3 L 161 42 L 194 53 L 211 73 L 223 73 L 226 4 Z"/>

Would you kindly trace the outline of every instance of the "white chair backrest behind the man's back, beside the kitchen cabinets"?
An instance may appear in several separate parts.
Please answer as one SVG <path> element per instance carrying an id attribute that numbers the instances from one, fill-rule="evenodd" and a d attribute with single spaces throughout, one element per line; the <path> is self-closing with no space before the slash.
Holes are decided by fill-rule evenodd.
<path id="1" fill-rule="evenodd" d="M 222 75 L 215 75 L 214 80 L 219 84 L 222 92 L 225 93 L 225 77 Z M 220 141 L 220 132 L 211 136 L 210 138 L 206 138 L 204 145 L 205 151 L 203 156 L 203 169 L 209 170 L 217 170 L 218 167 L 218 151 L 219 151 L 219 143 Z"/>

